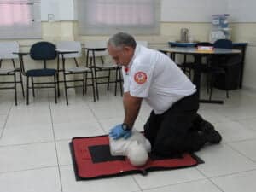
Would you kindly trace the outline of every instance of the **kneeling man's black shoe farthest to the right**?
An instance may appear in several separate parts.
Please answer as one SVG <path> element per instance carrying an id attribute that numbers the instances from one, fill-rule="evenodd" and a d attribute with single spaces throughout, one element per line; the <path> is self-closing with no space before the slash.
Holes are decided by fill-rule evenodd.
<path id="1" fill-rule="evenodd" d="M 221 135 L 214 129 L 214 126 L 204 120 L 201 122 L 200 131 L 208 143 L 217 144 L 222 140 Z"/>

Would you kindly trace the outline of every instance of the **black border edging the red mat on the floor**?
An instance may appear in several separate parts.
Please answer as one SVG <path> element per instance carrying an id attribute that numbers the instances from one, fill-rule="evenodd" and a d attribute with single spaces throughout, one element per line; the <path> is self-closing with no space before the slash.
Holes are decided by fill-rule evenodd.
<path id="1" fill-rule="evenodd" d="M 83 138 L 93 138 L 93 137 L 106 137 L 106 136 L 107 135 L 92 136 L 92 137 L 73 137 L 72 138 L 72 141 L 69 143 L 69 149 L 70 149 L 71 156 L 72 156 L 73 171 L 74 171 L 76 181 L 86 181 L 86 180 L 95 180 L 95 179 L 101 179 L 101 178 L 119 177 L 119 176 L 131 175 L 132 173 L 133 174 L 140 173 L 143 176 L 146 176 L 146 175 L 148 175 L 148 171 L 168 171 L 168 170 L 184 169 L 184 168 L 189 168 L 189 167 L 193 167 L 193 166 L 197 166 L 199 164 L 205 163 L 204 160 L 201 160 L 201 158 L 198 157 L 196 154 L 190 154 L 197 161 L 197 164 L 195 164 L 193 166 L 176 166 L 176 167 L 161 167 L 161 166 L 154 167 L 153 166 L 153 167 L 148 167 L 147 169 L 144 169 L 144 170 L 132 170 L 132 171 L 126 171 L 126 172 L 119 172 L 117 174 L 111 174 L 111 175 L 103 175 L 103 176 L 88 177 L 88 178 L 79 177 L 78 165 L 76 163 L 75 156 L 74 156 L 73 140 L 74 139 L 83 139 Z"/>

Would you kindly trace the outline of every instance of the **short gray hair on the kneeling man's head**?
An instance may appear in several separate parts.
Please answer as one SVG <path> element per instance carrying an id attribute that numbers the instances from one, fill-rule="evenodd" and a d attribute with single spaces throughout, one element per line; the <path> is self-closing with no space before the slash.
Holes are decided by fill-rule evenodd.
<path id="1" fill-rule="evenodd" d="M 108 45 L 112 45 L 116 48 L 123 48 L 124 46 L 129 46 L 135 49 L 136 41 L 130 34 L 125 32 L 119 32 L 108 39 Z"/>

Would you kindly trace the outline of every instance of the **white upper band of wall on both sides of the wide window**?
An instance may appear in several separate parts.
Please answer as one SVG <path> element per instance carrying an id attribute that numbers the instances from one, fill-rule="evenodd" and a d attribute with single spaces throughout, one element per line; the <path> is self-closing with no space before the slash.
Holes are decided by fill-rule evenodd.
<path id="1" fill-rule="evenodd" d="M 76 20 L 77 0 L 42 0 L 41 19 Z M 256 22 L 255 0 L 160 0 L 161 21 L 211 22 L 213 14 L 230 14 L 230 21 Z M 242 3 L 241 3 L 242 2 Z"/>

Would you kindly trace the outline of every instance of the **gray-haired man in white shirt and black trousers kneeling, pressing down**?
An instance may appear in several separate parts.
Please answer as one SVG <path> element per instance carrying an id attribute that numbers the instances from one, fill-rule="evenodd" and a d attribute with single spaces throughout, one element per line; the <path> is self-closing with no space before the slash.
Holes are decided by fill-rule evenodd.
<path id="1" fill-rule="evenodd" d="M 131 137 L 145 100 L 153 108 L 144 125 L 152 153 L 168 157 L 198 151 L 206 143 L 220 143 L 218 131 L 197 113 L 195 85 L 167 55 L 138 45 L 124 32 L 108 40 L 108 53 L 122 66 L 125 92 L 124 122 L 113 127 L 109 137 Z"/>

